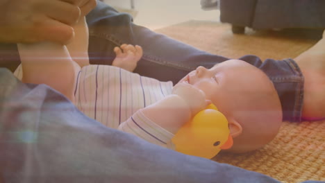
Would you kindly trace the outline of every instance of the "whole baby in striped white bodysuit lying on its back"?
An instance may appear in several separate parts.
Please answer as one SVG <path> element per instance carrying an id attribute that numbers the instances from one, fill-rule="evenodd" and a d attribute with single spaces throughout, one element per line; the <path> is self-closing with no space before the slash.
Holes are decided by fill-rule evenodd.
<path id="1" fill-rule="evenodd" d="M 228 119 L 232 152 L 256 150 L 279 130 L 282 111 L 276 90 L 265 73 L 246 62 L 228 60 L 211 69 L 198 67 L 173 87 L 172 82 L 131 72 L 142 56 L 140 46 L 116 47 L 113 66 L 89 65 L 84 19 L 75 32 L 67 47 L 19 44 L 22 68 L 16 70 L 17 77 L 47 84 L 87 116 L 167 148 L 172 148 L 178 129 L 210 103 Z"/>

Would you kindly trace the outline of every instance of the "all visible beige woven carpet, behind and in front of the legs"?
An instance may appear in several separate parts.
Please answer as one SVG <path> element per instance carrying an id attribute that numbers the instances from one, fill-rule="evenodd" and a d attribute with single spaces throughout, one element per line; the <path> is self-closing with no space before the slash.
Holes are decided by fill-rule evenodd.
<path id="1" fill-rule="evenodd" d="M 258 31 L 233 35 L 227 24 L 188 21 L 156 30 L 210 53 L 239 58 L 294 58 L 317 42 L 321 31 Z M 325 121 L 283 122 L 276 138 L 242 155 L 220 153 L 213 160 L 274 177 L 281 182 L 325 181 Z M 235 175 L 234 175 L 235 176 Z"/>

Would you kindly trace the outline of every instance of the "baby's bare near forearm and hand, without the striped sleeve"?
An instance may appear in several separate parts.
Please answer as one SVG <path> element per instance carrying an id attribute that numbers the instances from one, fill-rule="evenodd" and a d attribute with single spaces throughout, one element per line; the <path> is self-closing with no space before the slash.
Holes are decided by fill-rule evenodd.
<path id="1" fill-rule="evenodd" d="M 206 106 L 206 95 L 186 83 L 174 86 L 172 95 L 145 107 L 142 112 L 160 127 L 175 134 L 194 114 Z"/>

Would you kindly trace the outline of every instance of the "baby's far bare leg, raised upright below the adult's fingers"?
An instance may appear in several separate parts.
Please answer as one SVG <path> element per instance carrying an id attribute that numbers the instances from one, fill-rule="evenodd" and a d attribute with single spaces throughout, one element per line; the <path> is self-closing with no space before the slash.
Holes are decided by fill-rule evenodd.
<path id="1" fill-rule="evenodd" d="M 67 44 L 67 49 L 72 59 L 77 62 L 80 67 L 89 65 L 88 36 L 88 26 L 85 17 L 81 17 L 78 23 L 74 25 L 74 39 Z"/>

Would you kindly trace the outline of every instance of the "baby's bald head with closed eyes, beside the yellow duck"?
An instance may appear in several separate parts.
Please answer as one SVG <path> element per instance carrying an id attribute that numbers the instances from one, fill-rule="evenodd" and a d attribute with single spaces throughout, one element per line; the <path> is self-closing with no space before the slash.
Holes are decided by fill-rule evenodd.
<path id="1" fill-rule="evenodd" d="M 228 60 L 211 69 L 198 67 L 182 81 L 206 93 L 228 119 L 233 153 L 261 148 L 272 141 L 282 122 L 281 103 L 273 83 L 251 64 Z"/>

